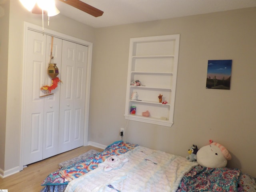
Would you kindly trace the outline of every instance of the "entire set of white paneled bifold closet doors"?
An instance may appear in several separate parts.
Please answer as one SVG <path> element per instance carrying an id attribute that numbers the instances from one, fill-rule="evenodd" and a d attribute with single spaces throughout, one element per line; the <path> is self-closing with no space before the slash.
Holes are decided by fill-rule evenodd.
<path id="1" fill-rule="evenodd" d="M 54 37 L 54 63 L 62 83 L 52 95 L 40 97 L 52 84 L 47 69 L 51 38 L 27 31 L 23 86 L 23 165 L 83 145 L 88 47 Z"/>

